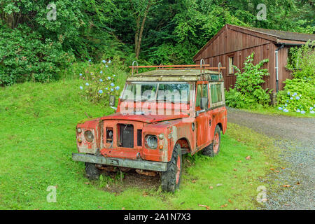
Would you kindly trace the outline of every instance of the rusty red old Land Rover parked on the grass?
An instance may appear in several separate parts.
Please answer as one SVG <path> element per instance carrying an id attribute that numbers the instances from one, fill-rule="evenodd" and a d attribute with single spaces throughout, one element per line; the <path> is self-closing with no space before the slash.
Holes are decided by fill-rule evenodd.
<path id="1" fill-rule="evenodd" d="M 157 69 L 134 74 L 144 67 Z M 174 192 L 183 154 L 215 156 L 220 151 L 227 127 L 221 69 L 209 64 L 132 66 L 116 113 L 76 126 L 73 160 L 85 162 L 90 179 L 114 167 L 159 173 L 162 190 Z M 115 105 L 113 96 L 110 105 Z"/>

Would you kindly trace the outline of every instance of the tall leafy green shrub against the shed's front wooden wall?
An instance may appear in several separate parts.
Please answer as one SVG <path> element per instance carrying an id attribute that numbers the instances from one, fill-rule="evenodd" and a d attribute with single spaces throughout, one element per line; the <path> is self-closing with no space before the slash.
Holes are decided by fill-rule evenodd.
<path id="1" fill-rule="evenodd" d="M 246 57 L 242 72 L 237 66 L 235 75 L 235 89 L 230 88 L 225 93 L 226 103 L 228 106 L 235 108 L 255 108 L 258 105 L 267 106 L 270 102 L 269 92 L 271 90 L 263 90 L 262 83 L 265 83 L 263 76 L 269 76 L 267 69 L 261 69 L 268 59 L 263 59 L 258 64 L 253 64 L 254 52 Z"/>

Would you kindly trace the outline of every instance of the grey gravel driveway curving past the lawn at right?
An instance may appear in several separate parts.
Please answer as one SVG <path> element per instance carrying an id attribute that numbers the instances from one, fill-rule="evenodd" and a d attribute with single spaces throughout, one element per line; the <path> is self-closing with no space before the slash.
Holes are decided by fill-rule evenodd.
<path id="1" fill-rule="evenodd" d="M 228 122 L 274 139 L 286 169 L 266 180 L 289 188 L 267 189 L 262 209 L 315 209 L 315 118 L 248 113 L 228 108 Z"/>

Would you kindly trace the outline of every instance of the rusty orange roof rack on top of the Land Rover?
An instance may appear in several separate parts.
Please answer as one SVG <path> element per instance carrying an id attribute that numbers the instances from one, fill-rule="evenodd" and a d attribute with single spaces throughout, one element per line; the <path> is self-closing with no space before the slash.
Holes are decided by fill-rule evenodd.
<path id="1" fill-rule="evenodd" d="M 136 66 L 134 64 L 137 64 Z M 221 65 L 221 62 L 218 63 L 217 67 L 211 67 L 210 64 L 204 64 L 204 59 L 200 60 L 200 64 L 173 64 L 173 65 L 141 65 L 139 66 L 137 61 L 132 62 L 132 66 L 129 66 L 132 69 L 132 76 L 134 75 L 134 70 L 137 71 L 141 68 L 156 68 L 156 69 L 163 69 L 163 70 L 183 70 L 183 69 L 200 69 L 200 74 L 206 73 L 207 70 L 218 70 L 219 76 L 221 74 L 221 69 L 226 69 Z"/>

